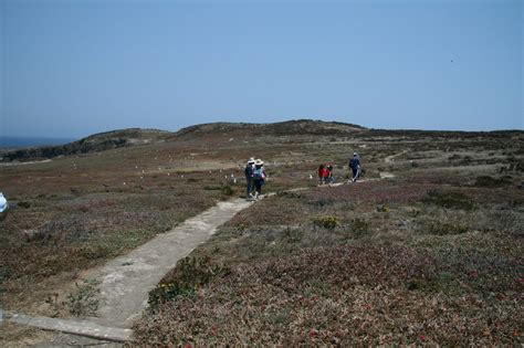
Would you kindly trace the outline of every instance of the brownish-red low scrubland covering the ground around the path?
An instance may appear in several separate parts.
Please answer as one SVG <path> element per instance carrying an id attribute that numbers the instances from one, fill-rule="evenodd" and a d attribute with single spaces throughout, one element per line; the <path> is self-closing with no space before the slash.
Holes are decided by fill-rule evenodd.
<path id="1" fill-rule="evenodd" d="M 135 325 L 137 344 L 518 345 L 523 140 L 522 131 L 214 124 L 7 161 L 0 300 L 78 315 L 84 271 L 244 194 L 243 165 L 255 157 L 275 194 L 166 275 Z M 321 162 L 347 181 L 354 151 L 360 182 L 317 187 Z"/>

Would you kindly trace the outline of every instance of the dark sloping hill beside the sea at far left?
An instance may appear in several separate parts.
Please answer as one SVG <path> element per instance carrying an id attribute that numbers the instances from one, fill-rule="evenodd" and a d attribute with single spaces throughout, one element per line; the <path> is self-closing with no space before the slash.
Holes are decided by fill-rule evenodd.
<path id="1" fill-rule="evenodd" d="M 95 134 L 59 146 L 28 147 L 0 152 L 2 161 L 54 158 L 57 156 L 97 152 L 118 147 L 165 141 L 170 131 L 129 128 Z"/>

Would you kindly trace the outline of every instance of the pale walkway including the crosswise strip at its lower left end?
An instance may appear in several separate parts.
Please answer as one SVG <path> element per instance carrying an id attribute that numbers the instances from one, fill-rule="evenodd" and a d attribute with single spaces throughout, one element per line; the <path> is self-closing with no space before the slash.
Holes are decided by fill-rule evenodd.
<path id="1" fill-rule="evenodd" d="M 252 203 L 244 199 L 219 202 L 128 254 L 88 271 L 85 278 L 101 282 L 96 317 L 75 320 L 9 314 L 6 321 L 104 340 L 130 340 L 133 331 L 129 328 L 146 308 L 148 293 L 179 260 L 207 241 L 218 226 Z"/>

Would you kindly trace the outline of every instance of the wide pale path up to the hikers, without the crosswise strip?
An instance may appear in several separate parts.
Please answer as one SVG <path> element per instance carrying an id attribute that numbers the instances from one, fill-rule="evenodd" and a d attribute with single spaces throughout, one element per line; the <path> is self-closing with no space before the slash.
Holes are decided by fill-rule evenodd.
<path id="1" fill-rule="evenodd" d="M 128 328 L 147 306 L 148 293 L 158 282 L 217 228 L 252 202 L 234 199 L 186 220 L 174 230 L 159 234 L 130 253 L 109 261 L 87 274 L 102 282 L 101 306 L 93 321 Z"/>

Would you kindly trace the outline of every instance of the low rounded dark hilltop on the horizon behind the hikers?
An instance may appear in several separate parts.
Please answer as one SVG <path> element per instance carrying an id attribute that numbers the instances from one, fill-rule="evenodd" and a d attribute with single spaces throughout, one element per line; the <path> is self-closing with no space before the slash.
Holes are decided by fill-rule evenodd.
<path id="1" fill-rule="evenodd" d="M 190 126 L 178 130 L 176 137 L 212 135 L 212 134 L 234 134 L 247 136 L 285 136 L 285 135 L 335 135 L 349 134 L 365 130 L 358 125 L 338 122 L 322 122 L 312 119 L 296 119 L 273 124 L 247 124 L 247 123 L 212 123 Z"/>

